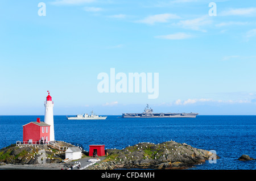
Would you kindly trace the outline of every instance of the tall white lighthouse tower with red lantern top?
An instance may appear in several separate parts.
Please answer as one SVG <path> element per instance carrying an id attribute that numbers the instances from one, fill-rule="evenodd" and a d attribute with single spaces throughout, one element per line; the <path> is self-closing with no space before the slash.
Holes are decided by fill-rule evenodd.
<path id="1" fill-rule="evenodd" d="M 44 123 L 51 125 L 50 126 L 50 134 L 49 134 L 49 140 L 47 141 L 55 141 L 54 138 L 54 122 L 53 122 L 53 101 L 52 97 L 49 95 L 46 97 L 46 101 L 44 102 L 44 107 L 46 107 L 46 111 L 44 112 Z"/>

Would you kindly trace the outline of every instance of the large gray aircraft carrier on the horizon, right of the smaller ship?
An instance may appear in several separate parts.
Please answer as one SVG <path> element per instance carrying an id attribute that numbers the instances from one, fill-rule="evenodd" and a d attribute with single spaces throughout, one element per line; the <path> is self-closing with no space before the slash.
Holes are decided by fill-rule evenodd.
<path id="1" fill-rule="evenodd" d="M 144 109 L 142 113 L 123 113 L 123 118 L 135 118 L 135 117 L 189 117 L 195 118 L 198 113 L 153 113 L 153 110 L 148 107 Z"/>

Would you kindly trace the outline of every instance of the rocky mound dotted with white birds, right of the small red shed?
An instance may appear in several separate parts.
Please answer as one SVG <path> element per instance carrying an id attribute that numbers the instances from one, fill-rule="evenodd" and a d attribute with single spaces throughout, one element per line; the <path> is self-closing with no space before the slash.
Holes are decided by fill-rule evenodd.
<path id="1" fill-rule="evenodd" d="M 90 169 L 188 169 L 204 163 L 210 157 L 219 158 L 210 151 L 175 141 L 161 144 L 143 142 L 122 150 L 108 149 L 106 153 L 108 157 Z"/>

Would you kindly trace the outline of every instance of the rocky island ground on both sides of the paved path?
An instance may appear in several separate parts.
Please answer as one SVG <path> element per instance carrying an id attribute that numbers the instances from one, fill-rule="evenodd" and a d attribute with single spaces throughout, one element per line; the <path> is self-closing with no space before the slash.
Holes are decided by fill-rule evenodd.
<path id="1" fill-rule="evenodd" d="M 65 142 L 59 142 L 65 146 L 73 146 Z M 44 158 L 46 162 L 42 163 Z M 142 142 L 133 146 L 127 146 L 121 150 L 107 149 L 106 158 L 86 169 L 89 170 L 113 170 L 113 169 L 188 169 L 204 163 L 205 160 L 218 156 L 208 150 L 193 148 L 185 143 L 167 141 L 161 144 Z M 86 151 L 84 155 L 88 154 Z M 47 145 L 11 145 L 0 150 L 0 165 L 12 164 L 27 166 L 63 167 L 65 159 L 64 151 L 49 148 Z M 68 163 L 65 163 L 68 164 Z"/>

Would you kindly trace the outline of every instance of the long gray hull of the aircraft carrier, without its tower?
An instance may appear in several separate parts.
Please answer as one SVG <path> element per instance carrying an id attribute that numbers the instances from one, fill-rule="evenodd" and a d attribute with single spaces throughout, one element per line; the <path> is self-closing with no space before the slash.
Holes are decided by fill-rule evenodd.
<path id="1" fill-rule="evenodd" d="M 195 118 L 198 113 L 154 113 L 153 115 L 143 115 L 135 113 L 125 113 L 122 115 L 123 118 Z"/>

